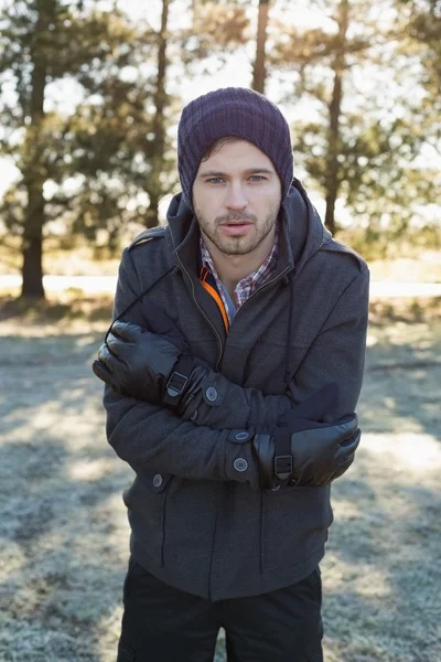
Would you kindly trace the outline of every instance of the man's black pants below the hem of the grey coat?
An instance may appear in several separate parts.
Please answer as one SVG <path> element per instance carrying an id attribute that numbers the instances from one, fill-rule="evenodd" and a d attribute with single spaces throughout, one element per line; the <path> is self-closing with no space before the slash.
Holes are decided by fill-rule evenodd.
<path id="1" fill-rule="evenodd" d="M 319 568 L 280 590 L 213 602 L 130 560 L 117 662 L 212 662 L 219 628 L 228 662 L 323 662 Z"/>

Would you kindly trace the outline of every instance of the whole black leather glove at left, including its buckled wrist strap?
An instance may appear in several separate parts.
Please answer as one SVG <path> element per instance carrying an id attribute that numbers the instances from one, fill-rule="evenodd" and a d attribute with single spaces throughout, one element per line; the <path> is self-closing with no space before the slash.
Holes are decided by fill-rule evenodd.
<path id="1" fill-rule="evenodd" d="M 99 348 L 93 371 L 120 393 L 172 408 L 185 406 L 206 374 L 161 335 L 118 320 Z"/>

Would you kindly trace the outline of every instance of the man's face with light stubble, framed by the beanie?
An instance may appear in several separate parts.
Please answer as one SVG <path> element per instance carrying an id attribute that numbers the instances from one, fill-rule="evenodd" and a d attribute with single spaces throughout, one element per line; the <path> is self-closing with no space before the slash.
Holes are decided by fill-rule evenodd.
<path id="1" fill-rule="evenodd" d="M 201 232 L 224 255 L 249 255 L 273 235 L 280 202 L 272 162 L 246 140 L 216 148 L 201 162 L 193 184 Z"/>

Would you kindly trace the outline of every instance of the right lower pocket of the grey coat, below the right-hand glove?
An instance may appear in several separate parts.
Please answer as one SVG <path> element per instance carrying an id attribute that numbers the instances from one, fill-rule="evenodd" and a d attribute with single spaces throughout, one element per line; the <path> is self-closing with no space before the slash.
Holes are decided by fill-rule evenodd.
<path id="1" fill-rule="evenodd" d="M 267 490 L 262 517 L 262 569 L 301 564 L 326 542 L 333 521 L 330 487 Z"/>

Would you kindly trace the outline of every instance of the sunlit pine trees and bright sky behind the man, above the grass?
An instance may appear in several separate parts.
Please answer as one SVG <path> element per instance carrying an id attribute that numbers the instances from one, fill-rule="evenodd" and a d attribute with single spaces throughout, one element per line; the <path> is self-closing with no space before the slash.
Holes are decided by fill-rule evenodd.
<path id="1" fill-rule="evenodd" d="M 333 233 L 368 259 L 439 248 L 439 1 L 1 4 L 1 264 L 23 297 L 51 255 L 115 257 L 164 221 L 180 111 L 223 85 L 280 105 Z"/>

